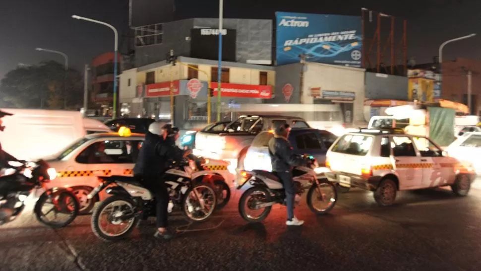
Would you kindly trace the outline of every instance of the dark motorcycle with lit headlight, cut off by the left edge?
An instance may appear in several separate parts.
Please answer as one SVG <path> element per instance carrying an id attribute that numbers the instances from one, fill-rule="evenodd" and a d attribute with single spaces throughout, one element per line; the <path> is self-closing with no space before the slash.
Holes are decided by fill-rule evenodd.
<path id="1" fill-rule="evenodd" d="M 34 207 L 35 217 L 39 222 L 52 228 L 61 228 L 77 217 L 80 204 L 72 192 L 47 188 L 47 183 L 57 177 L 57 172 L 50 168 L 46 161 L 26 162 L 19 167 L 12 167 L 12 170 L 11 175 L 0 178 L 0 186 L 5 191 L 0 195 L 0 225 L 17 218 L 24 209 L 28 196 L 34 189 L 36 191 L 39 188 L 45 190 Z M 44 212 L 47 204 L 52 206 Z M 64 220 L 53 221 L 47 217 L 52 212 L 55 218 L 60 215 L 66 217 Z"/>

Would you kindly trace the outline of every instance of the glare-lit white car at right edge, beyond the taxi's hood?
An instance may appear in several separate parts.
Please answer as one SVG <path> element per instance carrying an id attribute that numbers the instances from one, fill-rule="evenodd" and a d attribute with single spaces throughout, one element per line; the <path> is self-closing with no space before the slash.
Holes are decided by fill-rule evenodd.
<path id="1" fill-rule="evenodd" d="M 444 150 L 451 157 L 473 164 L 476 173 L 481 174 L 481 132 L 466 133 L 459 136 Z"/>

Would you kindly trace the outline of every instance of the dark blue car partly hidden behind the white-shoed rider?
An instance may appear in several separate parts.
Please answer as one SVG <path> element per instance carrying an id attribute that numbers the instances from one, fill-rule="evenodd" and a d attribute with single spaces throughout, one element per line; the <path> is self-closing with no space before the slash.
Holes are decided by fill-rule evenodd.
<path id="1" fill-rule="evenodd" d="M 269 140 L 272 137 L 274 137 L 273 131 L 261 132 L 259 135 L 255 136 L 245 154 L 245 170 L 250 171 L 257 169 L 269 172 L 272 171 L 268 148 Z M 337 136 L 324 130 L 298 128 L 291 130 L 288 139 L 295 153 L 309 154 L 317 160 L 319 167 L 324 167 L 326 152 L 337 139 Z"/>

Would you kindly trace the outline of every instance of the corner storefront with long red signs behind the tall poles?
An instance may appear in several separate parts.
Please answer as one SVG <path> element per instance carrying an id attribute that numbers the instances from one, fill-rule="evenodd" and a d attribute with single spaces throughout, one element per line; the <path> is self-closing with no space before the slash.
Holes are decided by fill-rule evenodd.
<path id="1" fill-rule="evenodd" d="M 199 79 L 176 80 L 172 82 L 174 92 L 174 124 L 182 129 L 201 127 L 207 124 L 208 83 Z M 211 120 L 217 116 L 217 82 L 211 85 Z M 145 85 L 142 98 L 143 116 L 162 120 L 171 119 L 170 82 Z M 226 110 L 229 104 L 262 103 L 272 98 L 270 85 L 221 84 L 221 117 L 229 118 Z"/>

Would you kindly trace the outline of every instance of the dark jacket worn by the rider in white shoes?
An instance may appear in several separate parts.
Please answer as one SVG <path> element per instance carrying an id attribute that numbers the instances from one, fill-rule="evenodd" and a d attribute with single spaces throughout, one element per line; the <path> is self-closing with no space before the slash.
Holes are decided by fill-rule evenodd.
<path id="1" fill-rule="evenodd" d="M 292 167 L 306 166 L 307 161 L 292 151 L 292 146 L 283 137 L 273 137 L 269 140 L 272 171 L 287 172 Z"/>

